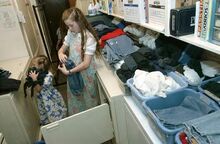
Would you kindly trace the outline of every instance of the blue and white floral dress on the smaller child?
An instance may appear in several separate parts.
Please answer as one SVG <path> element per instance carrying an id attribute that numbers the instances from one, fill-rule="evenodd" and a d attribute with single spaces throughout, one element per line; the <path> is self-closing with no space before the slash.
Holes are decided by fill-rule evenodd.
<path id="1" fill-rule="evenodd" d="M 66 106 L 60 92 L 53 87 L 53 74 L 48 72 L 42 89 L 36 94 L 40 124 L 46 125 L 66 117 Z"/>

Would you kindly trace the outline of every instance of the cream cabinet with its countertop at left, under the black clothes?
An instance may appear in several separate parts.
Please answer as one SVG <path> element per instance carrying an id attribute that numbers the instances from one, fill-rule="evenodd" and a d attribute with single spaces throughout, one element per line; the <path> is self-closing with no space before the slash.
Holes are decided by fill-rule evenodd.
<path id="1" fill-rule="evenodd" d="M 29 57 L 0 61 L 2 68 L 9 70 L 10 78 L 21 80 L 18 91 L 0 95 L 0 131 L 8 144 L 31 144 L 38 139 L 39 117 L 31 97 L 24 98 L 23 75 Z"/>

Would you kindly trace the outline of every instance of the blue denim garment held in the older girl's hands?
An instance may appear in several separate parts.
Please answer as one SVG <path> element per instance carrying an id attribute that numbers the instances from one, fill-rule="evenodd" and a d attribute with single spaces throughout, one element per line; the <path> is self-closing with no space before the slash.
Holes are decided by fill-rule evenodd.
<path id="1" fill-rule="evenodd" d="M 67 61 L 65 62 L 65 66 L 67 70 L 70 70 L 75 67 L 75 63 L 72 60 L 67 59 Z M 83 91 L 84 82 L 80 72 L 76 72 L 71 75 L 68 75 L 67 81 L 72 94 L 79 95 Z"/>

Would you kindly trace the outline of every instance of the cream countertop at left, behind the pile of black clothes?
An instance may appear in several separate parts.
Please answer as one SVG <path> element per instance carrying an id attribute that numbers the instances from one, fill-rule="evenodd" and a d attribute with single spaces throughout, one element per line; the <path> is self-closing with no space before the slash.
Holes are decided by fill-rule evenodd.
<path id="1" fill-rule="evenodd" d="M 10 78 L 21 80 L 29 64 L 30 57 L 0 61 L 0 68 L 11 72 Z"/>

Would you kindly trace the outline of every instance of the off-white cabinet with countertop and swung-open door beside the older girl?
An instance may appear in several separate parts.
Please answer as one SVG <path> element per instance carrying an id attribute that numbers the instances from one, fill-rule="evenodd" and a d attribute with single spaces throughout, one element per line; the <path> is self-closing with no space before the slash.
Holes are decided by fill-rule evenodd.
<path id="1" fill-rule="evenodd" d="M 104 62 L 96 62 L 101 104 L 41 127 L 47 144 L 99 144 L 114 137 L 117 144 L 126 143 L 126 133 L 120 133 L 125 121 L 121 114 L 123 92 Z"/>

